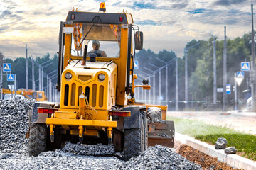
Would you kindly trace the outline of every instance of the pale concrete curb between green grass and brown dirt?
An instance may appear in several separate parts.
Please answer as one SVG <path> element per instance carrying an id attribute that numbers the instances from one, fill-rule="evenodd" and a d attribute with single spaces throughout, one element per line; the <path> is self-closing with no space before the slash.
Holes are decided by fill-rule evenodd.
<path id="1" fill-rule="evenodd" d="M 187 135 L 175 132 L 175 140 L 178 140 L 182 144 L 191 146 L 194 149 L 198 149 L 211 157 L 217 157 L 218 161 L 224 162 L 228 164 L 228 166 L 233 166 L 238 169 L 256 170 L 256 162 L 240 157 L 236 154 L 225 154 L 224 149 L 215 149 L 213 145 L 208 145 L 206 142 L 201 142 L 193 137 L 188 137 Z"/>

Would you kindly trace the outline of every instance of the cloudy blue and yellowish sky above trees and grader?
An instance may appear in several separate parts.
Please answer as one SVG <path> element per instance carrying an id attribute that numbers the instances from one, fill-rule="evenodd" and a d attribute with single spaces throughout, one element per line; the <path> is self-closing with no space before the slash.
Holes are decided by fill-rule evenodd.
<path id="1" fill-rule="evenodd" d="M 0 52 L 16 59 L 58 52 L 60 21 L 68 11 L 97 12 L 99 0 L 0 0 Z M 144 49 L 183 56 L 191 40 L 242 36 L 251 31 L 250 0 L 106 0 L 107 12 L 132 13 L 144 33 Z M 256 4 L 256 0 L 253 1 Z M 254 11 L 254 13 L 256 10 Z"/>

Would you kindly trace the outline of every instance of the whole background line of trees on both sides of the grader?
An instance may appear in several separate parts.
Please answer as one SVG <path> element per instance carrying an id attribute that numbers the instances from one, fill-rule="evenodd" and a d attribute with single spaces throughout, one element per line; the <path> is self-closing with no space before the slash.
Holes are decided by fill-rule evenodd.
<path id="1" fill-rule="evenodd" d="M 199 42 L 199 43 L 198 43 Z M 198 45 L 196 45 L 198 43 Z M 242 37 L 235 38 L 233 40 L 227 40 L 227 83 L 231 86 L 235 85 L 234 73 L 240 70 L 241 62 L 249 62 L 251 58 L 251 34 L 246 33 Z M 194 47 L 191 47 L 195 45 Z M 191 47 L 189 49 L 189 47 Z M 213 37 L 208 40 L 191 40 L 186 44 L 187 58 L 188 58 L 188 101 L 200 101 L 203 103 L 213 102 Z M 2 56 L 2 57 L 1 57 Z M 178 60 L 178 100 L 182 103 L 185 100 L 185 57 L 177 56 L 173 51 L 162 50 L 158 54 L 149 50 L 141 50 L 137 52 L 136 59 L 139 61 L 139 69 L 134 72 L 138 75 L 138 79 L 135 84 L 142 84 L 142 79 L 151 77 L 153 72 L 156 75 L 156 86 L 159 86 L 159 72 L 158 67 L 163 67 L 164 62 L 156 60 L 156 57 L 164 62 L 169 62 L 177 57 Z M 0 55 L 0 59 L 3 55 Z M 32 89 L 32 56 L 28 58 L 28 78 L 29 89 Z M 46 74 L 58 70 L 58 56 L 50 56 L 47 52 L 43 57 L 35 57 L 35 62 L 42 64 L 50 60 L 48 63 L 50 66 L 45 67 L 43 72 Z M 11 73 L 16 74 L 17 87 L 25 88 L 25 58 L 16 58 L 16 60 L 4 59 L 1 63 L 11 63 Z M 168 67 L 168 79 L 166 80 L 166 69 L 161 69 L 161 94 L 165 94 L 165 82 L 168 84 L 168 96 L 164 96 L 166 101 L 175 101 L 175 84 L 176 84 L 176 63 L 175 60 L 169 64 Z M 216 40 L 216 67 L 217 67 L 217 87 L 223 88 L 223 40 Z M 38 80 L 38 66 L 35 64 L 35 80 Z M 149 79 L 149 84 L 152 86 L 152 79 Z M 53 79 L 53 83 L 56 79 Z M 44 86 L 46 86 L 46 79 Z M 8 88 L 7 84 L 11 84 L 6 81 L 6 76 L 3 77 L 3 87 Z M 36 89 L 38 89 L 38 81 L 36 81 Z M 159 95 L 159 88 L 156 88 L 156 98 Z M 245 93 L 249 89 L 250 81 L 249 73 L 245 72 L 245 79 L 238 88 L 238 98 L 240 102 L 245 102 L 250 96 L 250 93 Z M 137 95 L 138 96 L 138 95 Z M 228 103 L 230 106 L 234 103 L 234 92 L 228 95 Z M 223 102 L 223 94 L 217 94 L 217 100 L 220 103 Z M 191 106 L 193 103 L 191 102 Z"/>

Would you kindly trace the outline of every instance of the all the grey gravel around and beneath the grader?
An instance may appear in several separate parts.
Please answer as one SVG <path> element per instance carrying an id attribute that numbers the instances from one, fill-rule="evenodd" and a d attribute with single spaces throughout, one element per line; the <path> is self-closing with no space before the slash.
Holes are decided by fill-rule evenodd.
<path id="1" fill-rule="evenodd" d="M 113 146 L 74 145 L 28 157 L 28 110 L 33 100 L 0 100 L 0 169 L 201 169 L 167 147 L 149 147 L 128 162 Z"/>

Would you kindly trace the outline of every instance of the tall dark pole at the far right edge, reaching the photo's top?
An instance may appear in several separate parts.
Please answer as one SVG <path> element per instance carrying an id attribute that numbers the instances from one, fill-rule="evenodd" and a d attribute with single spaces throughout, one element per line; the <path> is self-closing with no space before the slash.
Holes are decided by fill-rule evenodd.
<path id="1" fill-rule="evenodd" d="M 253 26 L 253 4 L 251 5 L 252 8 L 252 72 L 255 73 L 255 31 Z M 252 111 L 255 110 L 255 74 L 253 77 L 253 82 L 251 84 L 251 91 L 252 91 Z"/>

